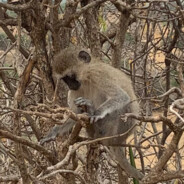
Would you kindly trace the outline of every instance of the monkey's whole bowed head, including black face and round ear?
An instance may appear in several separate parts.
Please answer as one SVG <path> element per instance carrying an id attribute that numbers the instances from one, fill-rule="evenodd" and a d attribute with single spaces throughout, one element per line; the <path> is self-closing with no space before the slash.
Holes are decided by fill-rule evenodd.
<path id="1" fill-rule="evenodd" d="M 78 90 L 81 86 L 78 80 L 83 66 L 88 65 L 91 56 L 84 50 L 66 48 L 53 61 L 53 74 L 68 85 L 70 90 Z"/>

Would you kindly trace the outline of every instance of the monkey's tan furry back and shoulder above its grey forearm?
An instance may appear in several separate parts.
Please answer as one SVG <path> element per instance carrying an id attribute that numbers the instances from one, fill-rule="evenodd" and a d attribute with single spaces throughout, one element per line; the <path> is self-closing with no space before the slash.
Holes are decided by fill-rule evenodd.
<path id="1" fill-rule="evenodd" d="M 92 61 L 89 65 L 81 68 L 79 80 L 89 86 L 87 95 L 92 95 L 95 99 L 105 94 L 106 97 L 117 95 L 118 88 L 125 91 L 132 101 L 132 112 L 137 113 L 139 106 L 136 100 L 132 81 L 122 71 L 103 62 Z M 92 94 L 91 94 L 92 93 Z M 102 103 L 105 99 L 100 100 Z"/>

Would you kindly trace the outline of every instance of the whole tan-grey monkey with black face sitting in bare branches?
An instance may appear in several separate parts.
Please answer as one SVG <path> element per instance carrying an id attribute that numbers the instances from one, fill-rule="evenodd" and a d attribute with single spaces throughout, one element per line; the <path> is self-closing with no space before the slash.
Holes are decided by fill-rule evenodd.
<path id="1" fill-rule="evenodd" d="M 125 113 L 138 114 L 139 105 L 131 80 L 119 69 L 91 56 L 84 49 L 68 47 L 54 57 L 52 70 L 57 80 L 63 80 L 69 88 L 68 105 L 71 110 L 81 113 L 80 107 L 87 107 L 90 123 L 86 130 L 89 137 L 95 139 L 122 134 L 136 123 L 134 119 L 121 120 Z M 69 132 L 74 124 L 75 121 L 69 119 L 64 125 L 56 125 L 41 144 Z M 129 164 L 121 148 L 112 147 L 124 143 L 131 133 L 104 140 L 102 144 L 111 147 L 122 169 L 140 180 L 142 173 Z"/>

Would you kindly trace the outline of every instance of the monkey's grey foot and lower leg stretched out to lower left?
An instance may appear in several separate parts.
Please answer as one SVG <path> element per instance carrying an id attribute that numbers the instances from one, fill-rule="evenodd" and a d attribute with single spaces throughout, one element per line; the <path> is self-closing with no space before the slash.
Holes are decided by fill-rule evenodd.
<path id="1" fill-rule="evenodd" d="M 43 139 L 40 140 L 40 144 L 53 141 L 57 136 L 64 136 L 69 134 L 74 125 L 75 121 L 72 119 L 68 119 L 63 125 L 55 125 L 51 131 Z"/>

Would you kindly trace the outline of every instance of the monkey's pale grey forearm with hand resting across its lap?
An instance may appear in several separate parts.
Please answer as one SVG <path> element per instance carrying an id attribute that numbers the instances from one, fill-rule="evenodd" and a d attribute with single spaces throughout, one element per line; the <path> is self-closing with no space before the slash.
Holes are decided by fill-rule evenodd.
<path id="1" fill-rule="evenodd" d="M 130 102 L 129 95 L 122 89 L 117 89 L 117 91 L 116 94 L 107 97 L 107 100 L 98 107 L 90 118 L 91 123 L 103 119 L 107 114 L 111 114 L 112 112 L 121 110 L 123 113 L 127 109 L 125 107 Z"/>

